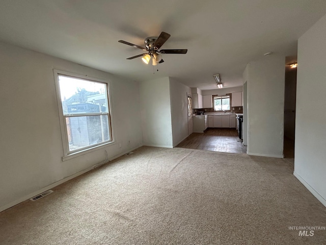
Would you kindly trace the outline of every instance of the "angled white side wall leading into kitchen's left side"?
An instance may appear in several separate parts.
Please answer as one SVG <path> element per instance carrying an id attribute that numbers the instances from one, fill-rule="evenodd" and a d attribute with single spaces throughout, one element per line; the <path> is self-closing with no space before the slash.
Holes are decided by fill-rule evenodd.
<path id="1" fill-rule="evenodd" d="M 192 89 L 170 78 L 173 147 L 188 137 L 187 93 Z"/>

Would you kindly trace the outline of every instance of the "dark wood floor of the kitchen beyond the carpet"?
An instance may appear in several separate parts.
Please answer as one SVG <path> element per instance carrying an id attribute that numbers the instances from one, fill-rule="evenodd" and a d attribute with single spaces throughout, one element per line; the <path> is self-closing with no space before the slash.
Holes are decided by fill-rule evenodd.
<path id="1" fill-rule="evenodd" d="M 213 152 L 247 153 L 247 147 L 239 142 L 235 129 L 208 128 L 204 133 L 192 133 L 176 147 Z"/>

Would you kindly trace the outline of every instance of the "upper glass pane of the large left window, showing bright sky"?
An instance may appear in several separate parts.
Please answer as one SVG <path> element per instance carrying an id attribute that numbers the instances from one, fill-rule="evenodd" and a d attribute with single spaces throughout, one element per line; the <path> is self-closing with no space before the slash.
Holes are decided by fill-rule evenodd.
<path id="1" fill-rule="evenodd" d="M 108 112 L 105 83 L 59 75 L 64 115 Z"/>

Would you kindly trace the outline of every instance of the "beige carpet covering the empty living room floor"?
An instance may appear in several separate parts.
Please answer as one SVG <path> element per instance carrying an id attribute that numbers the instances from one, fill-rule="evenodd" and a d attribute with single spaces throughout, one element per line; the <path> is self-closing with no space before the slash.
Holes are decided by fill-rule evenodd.
<path id="1" fill-rule="evenodd" d="M 0 213 L 0 244 L 326 244 L 287 159 L 142 147 Z"/>

